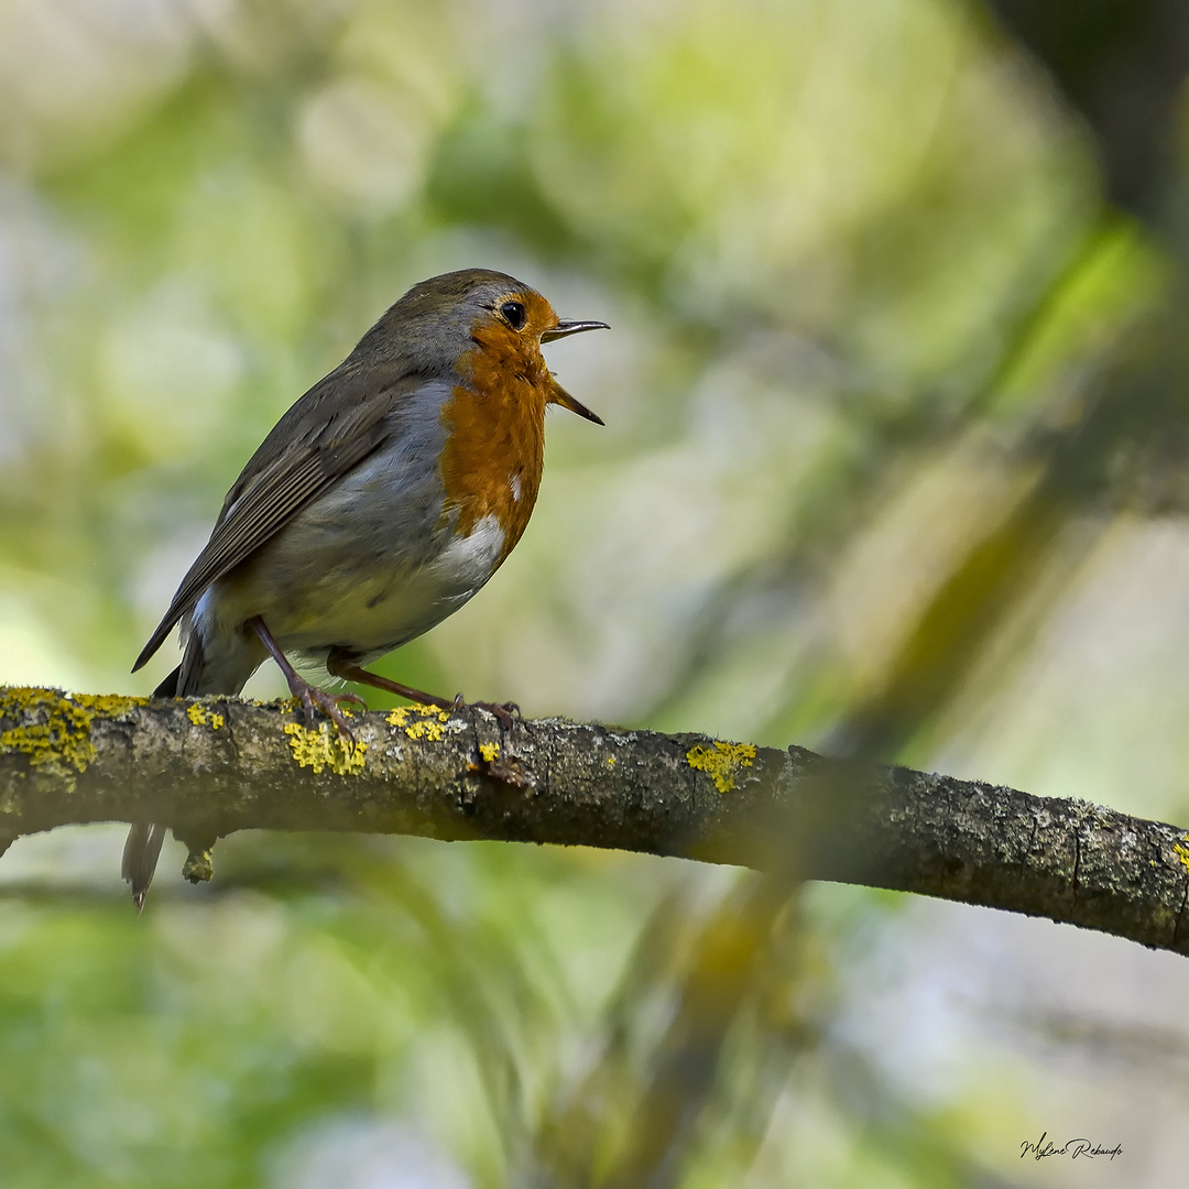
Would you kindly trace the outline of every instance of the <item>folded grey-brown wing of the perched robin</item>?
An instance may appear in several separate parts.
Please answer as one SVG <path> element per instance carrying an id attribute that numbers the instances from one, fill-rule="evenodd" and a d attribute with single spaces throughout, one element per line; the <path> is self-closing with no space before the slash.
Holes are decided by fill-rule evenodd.
<path id="1" fill-rule="evenodd" d="M 245 561 L 310 499 L 371 454 L 388 435 L 388 413 L 422 383 L 424 377 L 395 367 L 340 367 L 290 407 L 227 493 L 210 540 L 132 672 L 161 648 L 215 579 Z"/>

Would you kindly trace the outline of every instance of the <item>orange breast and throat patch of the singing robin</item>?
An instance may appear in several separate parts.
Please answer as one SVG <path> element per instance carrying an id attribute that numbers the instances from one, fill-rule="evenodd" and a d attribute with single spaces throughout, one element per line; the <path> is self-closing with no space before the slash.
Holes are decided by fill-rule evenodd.
<path id="1" fill-rule="evenodd" d="M 495 515 L 504 529 L 498 566 L 521 539 L 541 486 L 551 380 L 529 336 L 502 322 L 484 322 L 473 338 L 474 348 L 458 364 L 463 383 L 442 407 L 443 515 L 457 511 L 455 528 L 464 536 Z"/>

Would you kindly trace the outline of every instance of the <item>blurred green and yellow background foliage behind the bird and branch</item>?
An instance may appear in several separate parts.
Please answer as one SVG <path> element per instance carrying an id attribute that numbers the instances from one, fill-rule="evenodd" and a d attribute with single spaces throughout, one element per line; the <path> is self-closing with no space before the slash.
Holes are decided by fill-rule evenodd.
<path id="1" fill-rule="evenodd" d="M 383 671 L 1189 819 L 1185 23 L 995 8 L 2 0 L 0 681 L 150 691 L 277 416 L 486 266 L 612 325 L 549 348 L 606 428 Z M 1166 954 L 401 838 L 168 850 L 138 919 L 121 839 L 0 861 L 0 1185 L 1183 1179 Z"/>

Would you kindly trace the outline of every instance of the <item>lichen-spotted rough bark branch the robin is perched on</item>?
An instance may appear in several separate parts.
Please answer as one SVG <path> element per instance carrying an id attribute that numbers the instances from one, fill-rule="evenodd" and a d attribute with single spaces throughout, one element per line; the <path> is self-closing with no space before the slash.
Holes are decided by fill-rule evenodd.
<path id="1" fill-rule="evenodd" d="M 476 707 L 356 717 L 289 703 L 0 690 L 0 849 L 68 823 L 161 822 L 187 874 L 243 829 L 606 847 L 1051 917 L 1189 954 L 1189 837 L 1078 800 Z"/>

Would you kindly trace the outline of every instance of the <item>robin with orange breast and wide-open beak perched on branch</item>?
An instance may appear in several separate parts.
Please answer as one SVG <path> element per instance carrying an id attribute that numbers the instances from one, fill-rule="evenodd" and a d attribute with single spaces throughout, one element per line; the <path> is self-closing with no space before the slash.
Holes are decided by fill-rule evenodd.
<path id="1" fill-rule="evenodd" d="M 606 328 L 562 321 L 503 272 L 414 285 L 249 459 L 132 672 L 181 622 L 185 650 L 161 697 L 238 694 L 271 656 L 307 722 L 316 709 L 350 736 L 338 702 L 361 699 L 310 685 L 295 653 L 454 705 L 364 666 L 441 623 L 511 553 L 541 484 L 546 407 L 603 424 L 558 384 L 541 344 Z M 138 911 L 164 836 L 134 825 L 125 844 Z"/>

